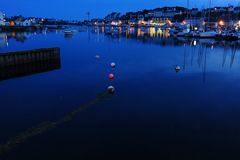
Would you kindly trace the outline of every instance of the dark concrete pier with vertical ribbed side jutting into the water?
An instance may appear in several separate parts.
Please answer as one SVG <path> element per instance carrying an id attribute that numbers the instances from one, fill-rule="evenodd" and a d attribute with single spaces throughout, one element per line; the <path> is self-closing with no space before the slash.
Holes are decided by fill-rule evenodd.
<path id="1" fill-rule="evenodd" d="M 48 72 L 60 68 L 59 48 L 0 53 L 0 80 Z"/>

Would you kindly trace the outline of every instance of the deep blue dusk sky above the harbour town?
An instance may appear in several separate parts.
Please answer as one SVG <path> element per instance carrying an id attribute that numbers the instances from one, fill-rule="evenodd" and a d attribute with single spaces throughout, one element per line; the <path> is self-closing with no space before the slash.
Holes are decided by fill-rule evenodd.
<path id="1" fill-rule="evenodd" d="M 209 0 L 190 0 L 190 7 L 207 7 Z M 212 0 L 214 6 L 233 4 L 239 0 Z M 86 19 L 103 17 L 109 12 L 126 12 L 161 6 L 186 6 L 187 0 L 1 0 L 0 11 L 7 15 Z"/>

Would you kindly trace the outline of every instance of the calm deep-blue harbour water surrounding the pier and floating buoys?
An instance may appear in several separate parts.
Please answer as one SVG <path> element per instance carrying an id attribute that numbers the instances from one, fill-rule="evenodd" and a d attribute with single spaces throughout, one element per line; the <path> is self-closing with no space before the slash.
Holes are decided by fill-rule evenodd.
<path id="1" fill-rule="evenodd" d="M 61 50 L 58 69 L 0 81 L 0 159 L 239 159 L 238 43 L 168 36 L 0 33 L 0 52 Z"/>

